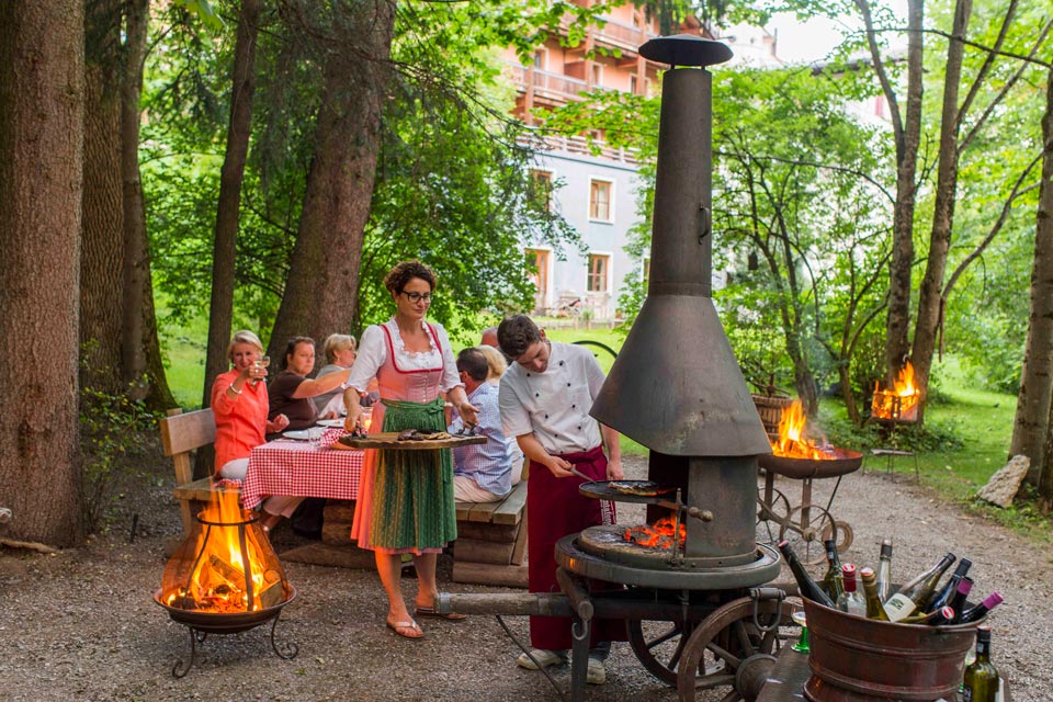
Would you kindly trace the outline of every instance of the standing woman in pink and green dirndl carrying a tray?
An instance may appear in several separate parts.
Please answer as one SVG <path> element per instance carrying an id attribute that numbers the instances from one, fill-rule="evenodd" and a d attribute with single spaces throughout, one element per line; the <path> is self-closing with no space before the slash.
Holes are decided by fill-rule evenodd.
<path id="1" fill-rule="evenodd" d="M 395 301 L 395 316 L 367 327 L 348 378 L 344 428 L 361 422 L 359 394 L 377 381 L 381 401 L 373 408 L 373 431 L 446 428 L 446 398 L 465 422 L 476 421 L 457 373 L 445 329 L 424 321 L 435 287 L 435 274 L 420 261 L 404 261 L 384 278 Z M 387 593 L 387 627 L 406 638 L 423 636 L 417 619 L 463 614 L 435 613 L 435 564 L 443 546 L 457 537 L 453 501 L 453 456 L 435 451 L 370 450 L 362 463 L 359 499 L 351 539 L 376 557 L 376 569 Z M 399 587 L 401 555 L 412 554 L 417 569 L 415 615 L 410 615 Z"/>

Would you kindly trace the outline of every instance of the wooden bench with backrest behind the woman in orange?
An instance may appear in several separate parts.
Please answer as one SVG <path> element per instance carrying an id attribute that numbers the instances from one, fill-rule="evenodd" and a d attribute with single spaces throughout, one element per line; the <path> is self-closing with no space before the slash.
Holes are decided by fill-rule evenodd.
<path id="1" fill-rule="evenodd" d="M 191 451 L 207 446 L 216 440 L 216 419 L 211 408 L 185 414 L 181 409 L 170 409 L 160 424 L 165 455 L 170 456 L 176 466 L 176 488 L 172 497 L 180 500 L 179 510 L 185 537 L 193 529 L 194 516 L 217 490 L 212 477 L 194 479 L 191 461 Z"/>

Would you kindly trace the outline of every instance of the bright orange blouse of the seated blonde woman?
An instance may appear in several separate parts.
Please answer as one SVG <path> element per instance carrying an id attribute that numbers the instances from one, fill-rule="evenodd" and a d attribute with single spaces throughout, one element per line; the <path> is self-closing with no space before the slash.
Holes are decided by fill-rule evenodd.
<path id="1" fill-rule="evenodd" d="M 265 383 L 248 382 L 233 399 L 227 392 L 240 371 L 231 369 L 216 376 L 212 385 L 212 411 L 216 417 L 215 473 L 235 458 L 248 458 L 262 444 L 270 400 Z"/>

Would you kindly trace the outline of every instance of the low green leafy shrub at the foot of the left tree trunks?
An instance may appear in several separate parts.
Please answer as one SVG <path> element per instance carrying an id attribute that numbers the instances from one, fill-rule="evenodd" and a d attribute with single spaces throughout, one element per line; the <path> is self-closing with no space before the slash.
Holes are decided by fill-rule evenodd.
<path id="1" fill-rule="evenodd" d="M 82 367 L 86 358 L 82 353 Z M 137 472 L 136 461 L 149 444 L 147 433 L 156 427 L 146 405 L 133 399 L 136 385 L 120 394 L 80 389 L 81 509 L 88 533 L 104 528 L 120 485 Z"/>

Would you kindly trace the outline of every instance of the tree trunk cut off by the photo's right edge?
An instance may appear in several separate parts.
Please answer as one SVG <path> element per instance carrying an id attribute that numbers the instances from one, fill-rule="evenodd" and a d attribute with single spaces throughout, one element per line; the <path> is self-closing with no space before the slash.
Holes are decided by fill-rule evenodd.
<path id="1" fill-rule="evenodd" d="M 1042 182 L 1034 225 L 1034 262 L 1031 268 L 1031 313 L 1020 372 L 1020 394 L 1012 424 L 1009 454 L 1031 456 L 1027 482 L 1039 487 L 1046 503 L 1053 501 L 1053 455 L 1046 443 L 1053 397 L 1053 67 L 1045 81 L 1042 117 Z"/>

